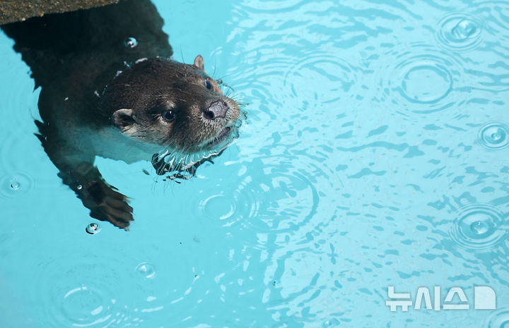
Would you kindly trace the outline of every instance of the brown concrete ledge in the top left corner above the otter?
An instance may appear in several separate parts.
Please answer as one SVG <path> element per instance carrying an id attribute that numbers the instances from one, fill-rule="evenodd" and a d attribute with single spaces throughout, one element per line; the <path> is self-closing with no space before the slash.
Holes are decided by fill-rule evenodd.
<path id="1" fill-rule="evenodd" d="M 0 25 L 92 7 L 117 4 L 119 0 L 0 0 Z"/>

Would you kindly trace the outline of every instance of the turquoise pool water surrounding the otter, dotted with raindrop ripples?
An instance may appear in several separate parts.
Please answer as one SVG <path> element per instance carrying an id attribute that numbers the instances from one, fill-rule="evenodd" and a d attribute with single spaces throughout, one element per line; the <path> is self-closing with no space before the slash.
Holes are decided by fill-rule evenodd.
<path id="1" fill-rule="evenodd" d="M 95 221 L 0 35 L 0 327 L 508 327 L 508 2 L 154 2 L 248 103 L 240 138 L 181 184 L 98 159 L 136 221 Z"/>

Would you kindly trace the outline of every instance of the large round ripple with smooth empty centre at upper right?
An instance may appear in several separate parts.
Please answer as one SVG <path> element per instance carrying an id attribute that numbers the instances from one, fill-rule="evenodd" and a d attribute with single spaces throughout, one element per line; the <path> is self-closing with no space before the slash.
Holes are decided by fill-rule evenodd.
<path id="1" fill-rule="evenodd" d="M 391 55 L 385 61 L 397 64 L 387 66 L 380 87 L 397 111 L 428 114 L 460 105 L 455 88 L 461 66 L 455 59 L 425 44 L 411 44 L 411 50 Z"/>

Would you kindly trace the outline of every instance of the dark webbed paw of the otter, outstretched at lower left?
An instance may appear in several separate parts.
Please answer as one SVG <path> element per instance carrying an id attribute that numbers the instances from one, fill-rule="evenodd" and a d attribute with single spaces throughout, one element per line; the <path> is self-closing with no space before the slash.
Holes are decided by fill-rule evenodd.
<path id="1" fill-rule="evenodd" d="M 89 183 L 81 200 L 90 209 L 90 217 L 109 221 L 120 229 L 129 230 L 130 222 L 134 221 L 133 208 L 127 204 L 127 197 L 107 186 L 104 181 Z"/>

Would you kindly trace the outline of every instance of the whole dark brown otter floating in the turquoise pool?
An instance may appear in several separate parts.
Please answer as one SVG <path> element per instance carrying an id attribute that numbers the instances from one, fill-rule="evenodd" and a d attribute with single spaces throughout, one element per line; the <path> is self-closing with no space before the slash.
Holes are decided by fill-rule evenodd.
<path id="1" fill-rule="evenodd" d="M 238 104 L 206 74 L 201 56 L 192 65 L 172 60 L 162 27 L 148 0 L 1 26 L 41 87 L 37 136 L 59 176 L 91 217 L 122 229 L 132 208 L 95 156 L 152 160 L 158 174 L 182 176 L 221 154 L 240 125 Z"/>

